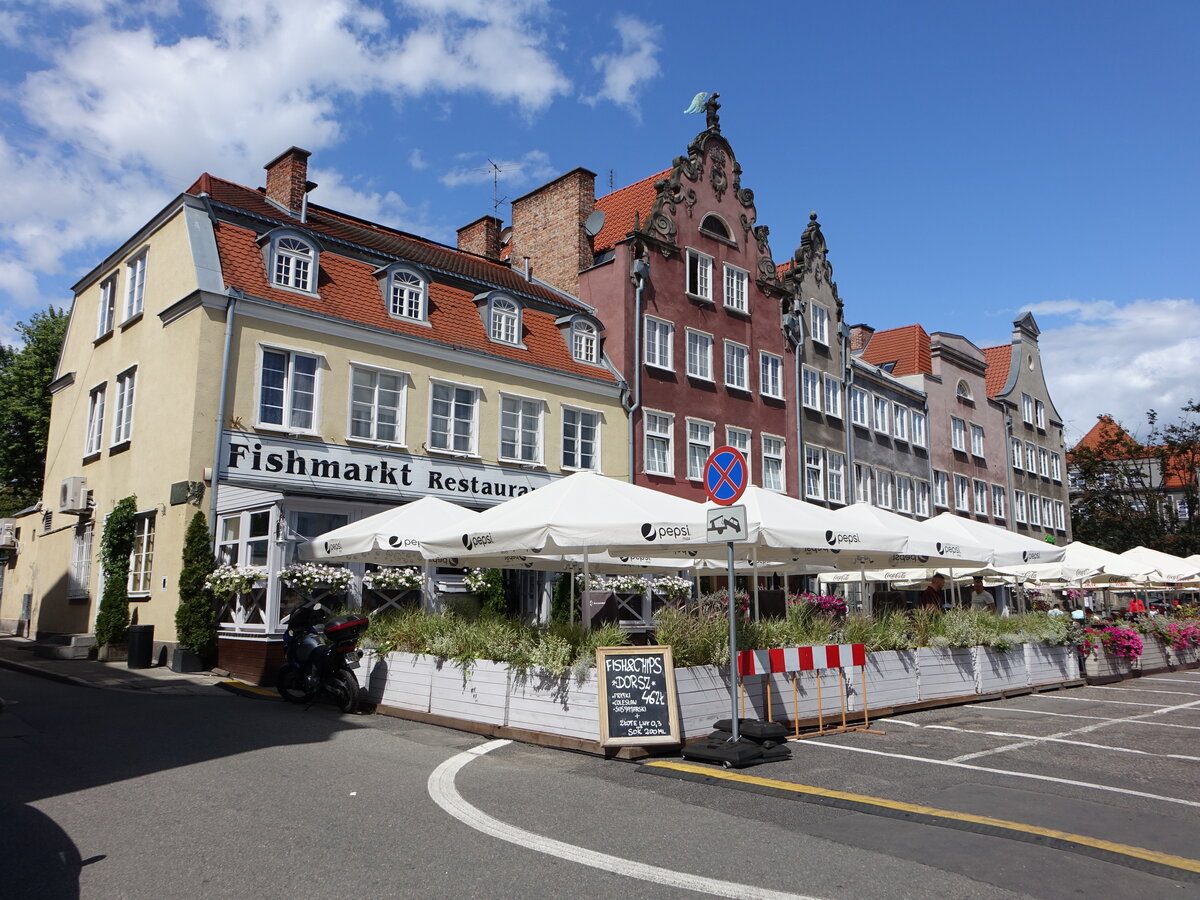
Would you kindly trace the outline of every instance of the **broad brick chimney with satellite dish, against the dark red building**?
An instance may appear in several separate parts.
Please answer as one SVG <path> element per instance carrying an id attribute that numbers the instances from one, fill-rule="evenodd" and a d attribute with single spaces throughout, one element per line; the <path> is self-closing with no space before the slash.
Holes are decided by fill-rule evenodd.
<path id="1" fill-rule="evenodd" d="M 595 209 L 594 172 L 578 168 L 512 200 L 509 259 L 572 296 L 580 293 L 580 271 L 593 263 L 592 238 L 584 220 Z"/>

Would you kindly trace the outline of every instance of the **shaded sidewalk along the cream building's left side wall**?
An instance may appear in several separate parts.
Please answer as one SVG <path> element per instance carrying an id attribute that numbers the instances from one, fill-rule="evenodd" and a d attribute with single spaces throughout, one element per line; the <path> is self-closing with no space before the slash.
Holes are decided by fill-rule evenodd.
<path id="1" fill-rule="evenodd" d="M 68 684 L 150 694 L 210 694 L 224 680 L 214 672 L 182 674 L 167 666 L 130 668 L 124 660 L 53 659 L 37 654 L 41 646 L 28 637 L 0 635 L 0 668 Z"/>

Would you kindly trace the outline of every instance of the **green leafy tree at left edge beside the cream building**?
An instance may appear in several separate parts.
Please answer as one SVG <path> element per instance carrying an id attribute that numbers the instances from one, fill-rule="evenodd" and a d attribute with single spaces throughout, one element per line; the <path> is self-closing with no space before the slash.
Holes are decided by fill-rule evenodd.
<path id="1" fill-rule="evenodd" d="M 50 306 L 18 323 L 20 348 L 0 346 L 0 516 L 42 497 L 50 431 L 50 382 L 59 364 L 67 313 Z"/>

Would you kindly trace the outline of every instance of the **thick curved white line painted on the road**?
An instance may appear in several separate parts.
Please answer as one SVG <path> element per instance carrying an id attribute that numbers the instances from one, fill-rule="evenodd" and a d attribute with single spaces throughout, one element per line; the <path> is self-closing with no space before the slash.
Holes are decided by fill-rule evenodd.
<path id="1" fill-rule="evenodd" d="M 630 859 L 622 859 L 620 857 L 610 856 L 607 853 L 598 853 L 592 850 L 577 847 L 574 844 L 557 841 L 552 838 L 544 838 L 540 834 L 534 834 L 533 832 L 527 832 L 523 828 L 505 824 L 498 818 L 488 816 L 486 812 L 475 809 L 462 798 L 462 794 L 458 793 L 458 788 L 455 787 L 455 775 L 457 775 L 458 770 L 473 758 L 482 756 L 484 754 L 491 752 L 492 750 L 505 746 L 510 743 L 511 742 L 509 740 L 490 740 L 486 744 L 480 744 L 479 746 L 458 754 L 457 756 L 451 756 L 444 763 L 438 766 L 430 775 L 427 785 L 430 797 L 433 798 L 433 802 L 451 816 L 457 818 L 463 824 L 474 828 L 476 832 L 482 832 L 492 838 L 499 838 L 502 841 L 508 841 L 509 844 L 516 844 L 526 850 L 546 853 L 547 856 L 566 859 L 568 862 L 578 863 L 580 865 L 588 865 L 593 869 L 601 869 L 607 872 L 613 872 L 614 875 L 623 875 L 629 878 L 640 878 L 642 881 L 654 882 L 655 884 L 666 884 L 667 887 L 682 888 L 684 890 L 714 894 L 716 896 L 746 898 L 746 900 L 815 900 L 815 898 L 804 896 L 803 894 L 785 894 L 779 890 L 756 888 L 750 884 L 738 884 L 732 881 L 704 878 L 698 875 L 677 872 L 656 865 L 635 863 Z"/>

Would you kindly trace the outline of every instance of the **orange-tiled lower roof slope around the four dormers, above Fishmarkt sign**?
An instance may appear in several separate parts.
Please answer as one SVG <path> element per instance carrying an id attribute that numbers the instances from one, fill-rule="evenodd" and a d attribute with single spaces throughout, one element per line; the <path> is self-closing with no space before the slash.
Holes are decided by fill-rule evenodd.
<path id="1" fill-rule="evenodd" d="M 334 252 L 320 254 L 319 296 L 272 287 L 266 280 L 256 233 L 230 222 L 215 226 L 217 252 L 226 283 L 247 294 L 310 312 L 370 325 L 380 331 L 410 335 L 448 347 L 461 347 L 517 362 L 613 382 L 607 368 L 577 362 L 570 354 L 552 312 L 526 306 L 522 312 L 524 348 L 496 343 L 487 337 L 472 290 L 434 281 L 430 286 L 430 326 L 394 319 L 384 308 L 374 265 Z"/>

